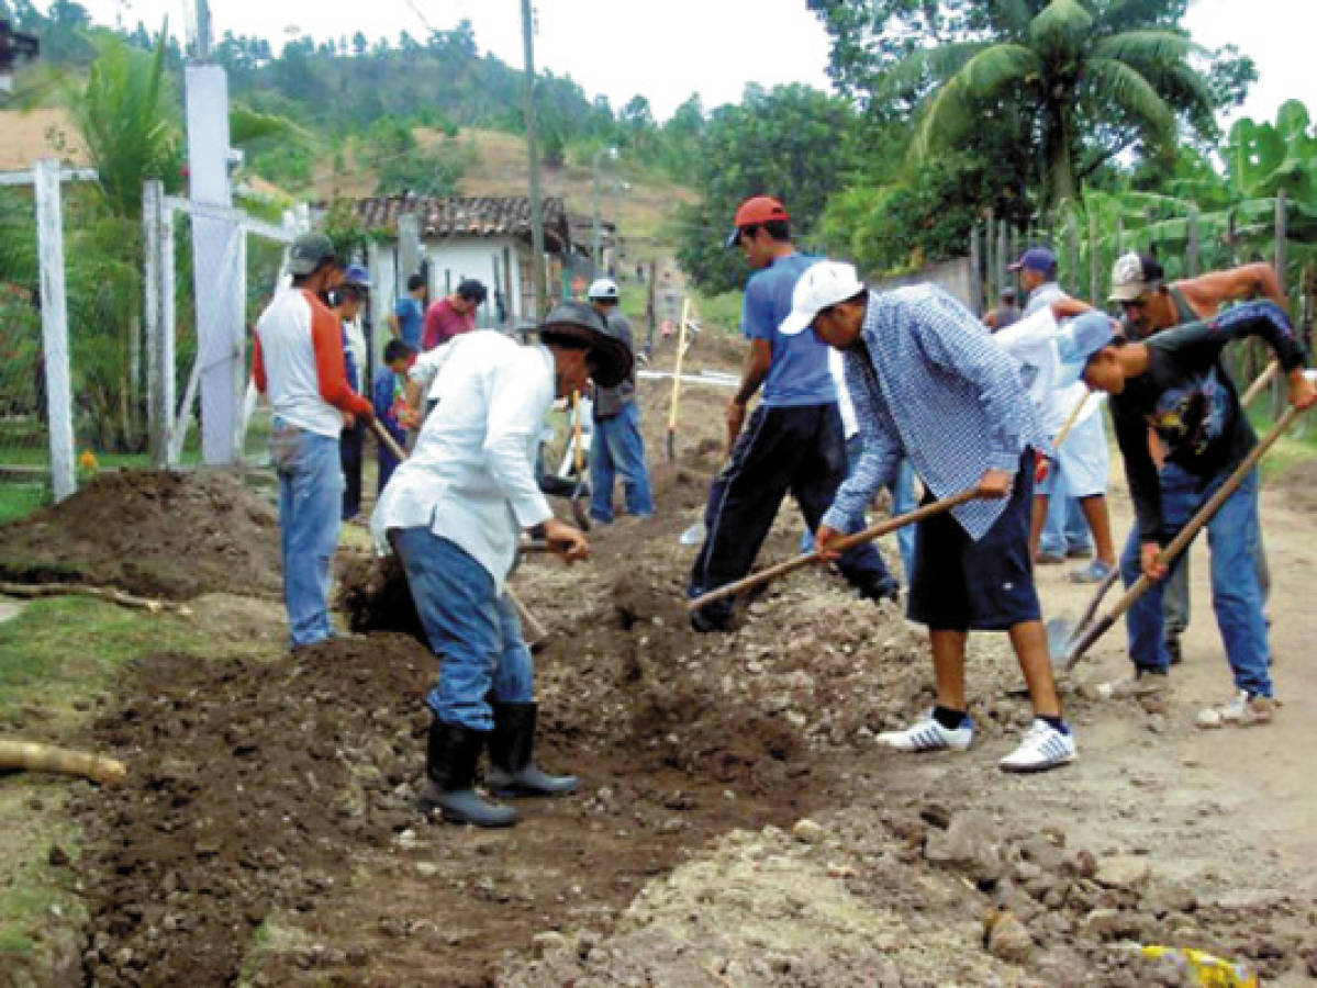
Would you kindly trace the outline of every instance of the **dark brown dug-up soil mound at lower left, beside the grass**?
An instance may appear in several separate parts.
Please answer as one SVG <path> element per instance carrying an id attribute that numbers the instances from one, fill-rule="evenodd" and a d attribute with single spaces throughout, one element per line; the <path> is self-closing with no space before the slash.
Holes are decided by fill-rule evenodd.
<path id="1" fill-rule="evenodd" d="M 129 783 L 75 805 L 101 849 L 84 862 L 88 980 L 227 983 L 271 909 L 316 908 L 345 846 L 381 846 L 415 822 L 391 789 L 421 750 L 431 675 L 396 635 L 271 666 L 148 660 L 140 699 L 96 730 Z"/>

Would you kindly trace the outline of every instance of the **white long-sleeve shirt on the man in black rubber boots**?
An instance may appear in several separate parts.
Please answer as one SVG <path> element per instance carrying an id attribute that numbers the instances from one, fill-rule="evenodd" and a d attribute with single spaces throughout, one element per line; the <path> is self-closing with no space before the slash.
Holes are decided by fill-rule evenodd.
<path id="1" fill-rule="evenodd" d="M 522 529 L 553 517 L 533 466 L 553 404 L 553 355 L 497 330 L 464 333 L 443 349 L 435 384 L 444 400 L 390 478 L 371 530 L 383 550 L 389 529 L 428 525 L 483 566 L 502 595 Z"/>

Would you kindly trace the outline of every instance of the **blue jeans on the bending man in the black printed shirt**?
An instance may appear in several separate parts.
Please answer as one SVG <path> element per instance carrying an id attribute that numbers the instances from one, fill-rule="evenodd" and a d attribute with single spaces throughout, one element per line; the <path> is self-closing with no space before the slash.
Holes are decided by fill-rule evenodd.
<path id="1" fill-rule="evenodd" d="M 1168 531 L 1176 531 L 1221 487 L 1227 474 L 1197 478 L 1173 463 L 1162 468 L 1162 517 Z M 1258 471 L 1249 474 L 1208 522 L 1212 551 L 1212 608 L 1226 646 L 1226 659 L 1238 689 L 1271 696 L 1271 651 L 1263 618 L 1263 593 L 1252 546 L 1258 535 Z M 1184 554 L 1173 570 L 1184 566 Z M 1172 572 L 1173 572 L 1172 570 Z M 1138 528 L 1130 531 L 1121 555 L 1121 579 L 1131 585 L 1141 572 Z M 1125 614 L 1130 658 L 1139 668 L 1166 671 L 1171 655 L 1163 638 L 1163 606 L 1167 580 L 1158 580 Z"/>

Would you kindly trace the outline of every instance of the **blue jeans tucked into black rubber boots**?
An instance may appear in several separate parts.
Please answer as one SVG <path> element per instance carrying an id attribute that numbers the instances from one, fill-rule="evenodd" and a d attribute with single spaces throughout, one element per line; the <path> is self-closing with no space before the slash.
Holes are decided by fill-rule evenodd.
<path id="1" fill-rule="evenodd" d="M 439 681 L 425 705 L 444 724 L 494 730 L 490 696 L 535 699 L 535 664 L 516 608 L 494 593 L 494 578 L 465 550 L 428 528 L 391 529 L 421 628 L 439 656 Z"/>

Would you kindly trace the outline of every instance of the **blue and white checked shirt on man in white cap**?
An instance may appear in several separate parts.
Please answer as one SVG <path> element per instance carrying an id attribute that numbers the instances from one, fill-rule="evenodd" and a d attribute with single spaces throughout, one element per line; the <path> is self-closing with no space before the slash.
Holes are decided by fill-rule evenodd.
<path id="1" fill-rule="evenodd" d="M 1019 366 L 936 285 L 869 292 L 860 338 L 842 357 L 864 451 L 823 516 L 828 528 L 844 531 L 902 455 L 942 499 L 988 470 L 1014 474 L 1027 447 L 1050 451 Z M 1006 499 L 975 500 L 952 513 L 977 541 L 1005 508 Z"/>

